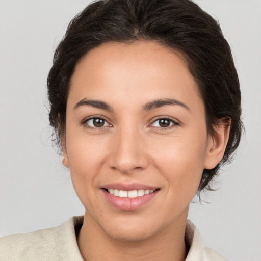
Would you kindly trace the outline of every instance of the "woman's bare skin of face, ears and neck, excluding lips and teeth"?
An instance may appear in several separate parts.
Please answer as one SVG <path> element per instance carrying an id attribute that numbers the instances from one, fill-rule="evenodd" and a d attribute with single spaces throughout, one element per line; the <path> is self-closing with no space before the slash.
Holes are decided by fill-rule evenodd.
<path id="1" fill-rule="evenodd" d="M 222 120 L 214 136 L 205 122 L 185 59 L 157 42 L 102 44 L 77 63 L 62 147 L 86 209 L 77 239 L 85 260 L 186 259 L 190 202 L 229 136 Z M 160 190 L 138 210 L 123 211 L 102 190 L 115 182 Z"/>

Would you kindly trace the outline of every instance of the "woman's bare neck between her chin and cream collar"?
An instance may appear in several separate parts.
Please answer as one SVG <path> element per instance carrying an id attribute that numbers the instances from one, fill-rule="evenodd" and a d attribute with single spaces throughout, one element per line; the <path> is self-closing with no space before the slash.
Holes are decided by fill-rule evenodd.
<path id="1" fill-rule="evenodd" d="M 184 261 L 188 253 L 188 247 L 186 247 L 185 243 L 186 220 L 187 216 L 185 219 L 180 217 L 173 224 L 144 240 L 121 241 L 108 236 L 85 213 L 78 244 L 85 261 Z"/>

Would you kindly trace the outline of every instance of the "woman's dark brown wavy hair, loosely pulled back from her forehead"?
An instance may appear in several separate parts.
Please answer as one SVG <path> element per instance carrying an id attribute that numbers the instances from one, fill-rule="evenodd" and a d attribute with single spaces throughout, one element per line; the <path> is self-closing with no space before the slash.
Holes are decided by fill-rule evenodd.
<path id="1" fill-rule="evenodd" d="M 239 145 L 241 92 L 230 47 L 219 23 L 190 0 L 99 0 L 69 23 L 58 45 L 48 79 L 49 119 L 57 144 L 65 131 L 66 102 L 76 63 L 92 48 L 106 42 L 153 40 L 187 61 L 205 106 L 206 126 L 213 135 L 221 118 L 230 118 L 229 140 L 222 161 L 204 169 L 198 192 L 211 190 L 220 166 L 230 162 Z"/>

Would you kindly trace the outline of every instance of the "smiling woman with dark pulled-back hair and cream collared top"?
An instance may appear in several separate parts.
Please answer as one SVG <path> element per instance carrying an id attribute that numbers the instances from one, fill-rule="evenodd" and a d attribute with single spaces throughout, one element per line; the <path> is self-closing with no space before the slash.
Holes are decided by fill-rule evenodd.
<path id="1" fill-rule="evenodd" d="M 242 129 L 237 71 L 210 15 L 189 0 L 94 2 L 70 22 L 47 84 L 86 212 L 1 239 L 3 260 L 225 260 L 187 221 Z"/>

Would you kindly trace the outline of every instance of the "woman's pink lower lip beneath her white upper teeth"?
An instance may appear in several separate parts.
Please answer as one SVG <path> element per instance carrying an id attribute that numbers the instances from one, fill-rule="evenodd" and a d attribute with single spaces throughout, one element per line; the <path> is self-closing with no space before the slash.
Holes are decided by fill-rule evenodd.
<path id="1" fill-rule="evenodd" d="M 107 192 L 106 190 L 102 189 L 103 194 L 114 207 L 118 208 L 119 210 L 125 211 L 134 211 L 138 210 L 140 207 L 147 204 L 150 200 L 152 200 L 156 194 L 158 194 L 158 190 L 154 191 L 153 193 L 140 196 L 137 198 L 121 198 L 114 196 Z"/>

